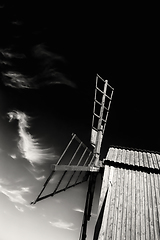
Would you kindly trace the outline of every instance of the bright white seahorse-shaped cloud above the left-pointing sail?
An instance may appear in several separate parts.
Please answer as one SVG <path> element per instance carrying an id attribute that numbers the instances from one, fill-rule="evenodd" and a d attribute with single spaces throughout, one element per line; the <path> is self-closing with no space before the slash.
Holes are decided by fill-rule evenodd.
<path id="1" fill-rule="evenodd" d="M 38 140 L 27 131 L 29 126 L 29 116 L 20 111 L 12 111 L 8 113 L 9 121 L 13 119 L 18 120 L 18 133 L 20 140 L 18 142 L 18 148 L 22 154 L 22 157 L 27 159 L 33 166 L 35 163 L 42 164 L 46 160 L 54 160 L 56 157 L 53 153 L 50 153 L 50 149 L 41 148 Z"/>

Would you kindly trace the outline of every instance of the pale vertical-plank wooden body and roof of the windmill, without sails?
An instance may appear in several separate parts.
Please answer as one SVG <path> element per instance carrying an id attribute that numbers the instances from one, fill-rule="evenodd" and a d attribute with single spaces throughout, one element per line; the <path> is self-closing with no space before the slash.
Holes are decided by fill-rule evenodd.
<path id="1" fill-rule="evenodd" d="M 160 155 L 111 147 L 104 164 L 100 208 L 104 188 L 109 184 L 110 188 L 99 235 L 94 239 L 159 240 Z"/>

